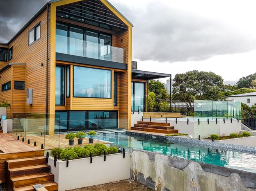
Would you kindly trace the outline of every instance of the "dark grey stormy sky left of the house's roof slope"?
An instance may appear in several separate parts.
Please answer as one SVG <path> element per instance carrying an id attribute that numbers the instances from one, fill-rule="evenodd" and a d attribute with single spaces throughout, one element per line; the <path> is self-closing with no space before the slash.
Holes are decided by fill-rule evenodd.
<path id="1" fill-rule="evenodd" d="M 48 0 L 0 0 L 0 42 L 7 43 Z"/>

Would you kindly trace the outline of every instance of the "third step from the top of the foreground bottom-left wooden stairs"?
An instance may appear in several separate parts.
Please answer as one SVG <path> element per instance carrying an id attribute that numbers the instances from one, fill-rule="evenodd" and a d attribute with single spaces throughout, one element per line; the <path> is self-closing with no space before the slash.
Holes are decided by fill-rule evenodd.
<path id="1" fill-rule="evenodd" d="M 51 181 L 54 181 L 54 175 L 52 173 L 41 173 L 11 178 L 13 188 Z"/>

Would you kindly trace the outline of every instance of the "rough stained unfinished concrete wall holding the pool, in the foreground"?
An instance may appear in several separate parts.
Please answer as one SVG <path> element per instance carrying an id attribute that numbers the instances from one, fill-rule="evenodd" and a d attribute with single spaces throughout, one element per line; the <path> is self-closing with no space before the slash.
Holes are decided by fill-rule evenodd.
<path id="1" fill-rule="evenodd" d="M 130 178 L 156 191 L 256 191 L 254 173 L 139 149 L 130 155 Z"/>

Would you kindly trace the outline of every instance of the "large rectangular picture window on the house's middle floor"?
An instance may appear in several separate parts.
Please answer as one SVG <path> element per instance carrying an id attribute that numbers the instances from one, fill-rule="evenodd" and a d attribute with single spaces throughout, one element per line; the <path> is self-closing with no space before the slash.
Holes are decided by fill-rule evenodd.
<path id="1" fill-rule="evenodd" d="M 111 98 L 111 71 L 74 66 L 74 97 Z"/>

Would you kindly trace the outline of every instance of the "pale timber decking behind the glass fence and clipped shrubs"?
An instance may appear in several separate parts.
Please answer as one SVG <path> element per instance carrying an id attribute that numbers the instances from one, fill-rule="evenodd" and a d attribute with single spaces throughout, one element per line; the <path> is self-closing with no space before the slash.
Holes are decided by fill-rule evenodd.
<path id="1" fill-rule="evenodd" d="M 18 135 L 20 134 L 17 134 L 16 133 L 7 133 L 7 134 L 10 134 L 11 137 L 15 138 L 17 140 L 17 137 Z M 23 136 L 25 134 L 23 133 Z M 20 141 L 21 141 L 22 137 L 20 137 Z M 70 146 L 69 145 L 69 140 L 68 139 L 65 139 L 65 135 L 64 134 L 60 134 L 60 135 L 26 135 L 26 137 L 24 136 L 24 139 L 25 139 L 25 143 L 27 144 L 27 140 L 29 139 L 30 140 L 30 145 L 34 146 L 34 142 L 37 143 L 37 146 L 39 146 L 41 148 L 41 144 L 44 145 L 44 149 L 46 150 L 50 150 L 50 149 L 53 149 L 53 148 L 69 148 L 69 147 L 74 147 L 74 146 L 85 146 L 87 144 L 90 144 L 89 143 L 89 138 L 84 138 L 83 139 L 83 142 L 82 142 L 82 145 L 78 145 L 78 139 L 75 138 L 74 140 L 74 145 L 73 146 Z M 105 142 L 105 141 L 101 141 L 101 140 L 97 140 L 97 139 L 94 139 L 94 143 L 93 144 L 96 144 L 96 143 L 102 143 L 102 144 L 106 144 L 108 142 Z M 1 149 L 0 149 L 1 150 Z"/>

